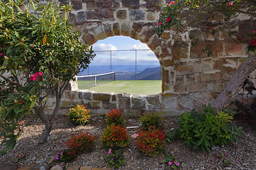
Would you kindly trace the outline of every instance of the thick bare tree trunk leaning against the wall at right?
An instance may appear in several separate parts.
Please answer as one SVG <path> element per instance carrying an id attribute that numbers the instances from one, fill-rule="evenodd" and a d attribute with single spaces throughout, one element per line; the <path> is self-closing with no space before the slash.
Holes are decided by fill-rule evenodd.
<path id="1" fill-rule="evenodd" d="M 218 95 L 216 101 L 211 105 L 217 111 L 221 111 L 232 100 L 235 94 L 242 88 L 243 81 L 256 69 L 256 55 L 248 57 L 243 64 L 238 67 L 238 70 L 233 74 L 226 88 Z"/>

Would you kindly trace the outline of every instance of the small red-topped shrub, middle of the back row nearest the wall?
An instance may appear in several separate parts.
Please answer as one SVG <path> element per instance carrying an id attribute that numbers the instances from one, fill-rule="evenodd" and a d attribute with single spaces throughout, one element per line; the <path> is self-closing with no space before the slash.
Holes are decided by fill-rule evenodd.
<path id="1" fill-rule="evenodd" d="M 123 113 L 120 109 L 113 109 L 112 111 L 106 113 L 106 125 L 122 125 L 124 127 L 126 123 Z"/>

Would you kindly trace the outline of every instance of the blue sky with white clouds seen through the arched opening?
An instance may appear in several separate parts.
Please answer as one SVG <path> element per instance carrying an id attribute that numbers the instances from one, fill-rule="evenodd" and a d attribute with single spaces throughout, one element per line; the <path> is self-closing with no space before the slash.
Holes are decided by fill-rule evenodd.
<path id="1" fill-rule="evenodd" d="M 157 57 L 150 48 L 130 37 L 125 36 L 113 36 L 104 40 L 97 41 L 92 45 L 94 51 L 102 50 L 138 50 L 137 51 L 137 64 L 143 65 L 155 65 L 160 66 Z M 147 51 L 140 51 L 147 50 Z M 128 65 L 135 64 L 135 51 L 117 51 L 117 52 L 96 52 L 96 57 L 91 62 L 91 66 L 94 65 L 108 65 L 112 60 L 112 65 Z"/>

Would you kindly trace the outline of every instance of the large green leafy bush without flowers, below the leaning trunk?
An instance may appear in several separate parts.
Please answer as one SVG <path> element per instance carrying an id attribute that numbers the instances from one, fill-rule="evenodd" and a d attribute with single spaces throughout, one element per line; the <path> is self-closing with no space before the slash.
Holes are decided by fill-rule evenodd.
<path id="1" fill-rule="evenodd" d="M 238 137 L 243 136 L 242 128 L 231 124 L 233 113 L 216 111 L 211 105 L 203 105 L 203 111 L 191 111 L 183 113 L 178 122 L 178 128 L 169 136 L 169 140 L 182 138 L 184 143 L 193 149 L 201 149 L 210 152 L 210 148 L 216 145 L 227 145 L 238 142 Z M 170 139 L 172 138 L 172 139 Z"/>

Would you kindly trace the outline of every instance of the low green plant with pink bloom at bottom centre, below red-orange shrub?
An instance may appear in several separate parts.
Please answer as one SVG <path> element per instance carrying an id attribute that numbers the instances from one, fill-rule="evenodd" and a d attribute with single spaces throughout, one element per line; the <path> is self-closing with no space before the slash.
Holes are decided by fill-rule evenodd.
<path id="1" fill-rule="evenodd" d="M 122 150 L 114 150 L 112 152 L 112 150 L 109 149 L 104 160 L 106 161 L 106 167 L 108 168 L 114 166 L 114 168 L 118 169 L 123 164 L 126 164 L 126 161 L 123 158 Z"/>

